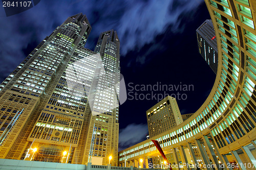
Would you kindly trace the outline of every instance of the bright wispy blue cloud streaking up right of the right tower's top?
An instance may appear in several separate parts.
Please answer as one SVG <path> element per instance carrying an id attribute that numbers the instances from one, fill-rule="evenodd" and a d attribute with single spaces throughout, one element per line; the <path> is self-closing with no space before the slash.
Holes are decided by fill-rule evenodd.
<path id="1" fill-rule="evenodd" d="M 179 2 L 179 3 L 177 3 Z M 121 51 L 126 54 L 134 47 L 142 47 L 172 25 L 179 32 L 180 16 L 197 9 L 203 1 L 163 0 L 129 1 L 129 8 L 121 17 L 118 34 L 122 42 Z"/>

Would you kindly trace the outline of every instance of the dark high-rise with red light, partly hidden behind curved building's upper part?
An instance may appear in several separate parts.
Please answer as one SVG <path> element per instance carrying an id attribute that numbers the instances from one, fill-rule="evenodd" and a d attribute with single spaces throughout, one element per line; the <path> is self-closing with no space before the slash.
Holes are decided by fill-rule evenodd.
<path id="1" fill-rule="evenodd" d="M 198 50 L 206 63 L 217 74 L 218 69 L 218 47 L 215 38 L 214 25 L 212 21 L 207 19 L 197 29 Z"/>

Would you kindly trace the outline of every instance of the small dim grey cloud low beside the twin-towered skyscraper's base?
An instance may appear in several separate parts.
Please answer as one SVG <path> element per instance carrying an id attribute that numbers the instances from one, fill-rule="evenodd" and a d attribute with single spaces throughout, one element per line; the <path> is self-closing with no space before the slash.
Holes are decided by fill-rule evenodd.
<path id="1" fill-rule="evenodd" d="M 119 151 L 145 140 L 147 124 L 130 124 L 119 130 Z"/>

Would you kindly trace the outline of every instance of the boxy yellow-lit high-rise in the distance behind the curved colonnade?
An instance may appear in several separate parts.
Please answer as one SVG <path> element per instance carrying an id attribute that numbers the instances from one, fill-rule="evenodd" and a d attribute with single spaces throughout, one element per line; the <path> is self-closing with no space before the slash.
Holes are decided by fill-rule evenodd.
<path id="1" fill-rule="evenodd" d="M 150 138 L 176 127 L 183 122 L 175 98 L 166 96 L 146 111 Z"/>

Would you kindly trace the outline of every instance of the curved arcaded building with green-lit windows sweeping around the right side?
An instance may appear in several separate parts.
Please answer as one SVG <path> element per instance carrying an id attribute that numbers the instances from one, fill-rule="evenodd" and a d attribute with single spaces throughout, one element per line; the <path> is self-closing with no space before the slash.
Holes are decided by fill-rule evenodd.
<path id="1" fill-rule="evenodd" d="M 256 1 L 205 3 L 218 43 L 214 87 L 194 115 L 152 139 L 170 155 L 170 164 L 232 169 L 230 162 L 236 162 L 240 169 L 255 169 Z M 147 159 L 160 154 L 151 140 L 145 140 L 118 155 L 119 166 L 138 166 L 139 159 L 143 159 L 147 167 Z"/>

